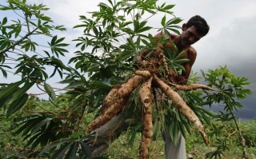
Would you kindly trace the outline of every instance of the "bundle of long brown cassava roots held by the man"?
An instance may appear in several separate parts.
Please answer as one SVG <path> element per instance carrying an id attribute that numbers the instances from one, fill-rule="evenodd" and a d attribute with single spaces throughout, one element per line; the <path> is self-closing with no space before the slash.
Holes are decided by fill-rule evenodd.
<path id="1" fill-rule="evenodd" d="M 114 88 L 110 90 L 110 93 L 107 94 L 102 103 L 101 114 L 95 118 L 94 121 L 90 122 L 86 128 L 86 132 L 91 133 L 94 129 L 97 129 L 100 126 L 105 125 L 107 121 L 110 121 L 110 119 L 117 115 L 124 105 L 126 105 L 126 101 L 130 97 L 130 94 L 133 93 L 134 89 L 141 85 L 138 90 L 138 96 L 142 102 L 143 129 L 139 153 L 141 158 L 147 158 L 151 137 L 153 136 L 152 105 L 154 100 L 152 100 L 151 84 L 154 82 L 158 88 L 162 90 L 162 93 L 165 93 L 166 97 L 170 99 L 174 107 L 178 109 L 186 119 L 194 123 L 199 133 L 201 133 L 206 145 L 208 145 L 209 141 L 201 121 L 194 111 L 186 105 L 183 98 L 172 88 L 186 91 L 191 89 L 213 89 L 201 84 L 178 85 L 170 81 L 162 80 L 158 74 L 160 66 L 162 66 L 161 68 L 164 68 L 166 74 L 168 74 L 168 67 L 162 51 L 162 46 L 159 45 L 154 50 L 153 57 L 145 62 L 139 70 L 136 70 L 133 77 L 121 85 L 115 85 Z"/>

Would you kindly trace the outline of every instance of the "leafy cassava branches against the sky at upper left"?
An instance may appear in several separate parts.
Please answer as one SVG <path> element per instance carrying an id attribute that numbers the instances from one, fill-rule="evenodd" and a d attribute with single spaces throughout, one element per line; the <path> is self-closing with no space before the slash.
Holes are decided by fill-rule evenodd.
<path id="1" fill-rule="evenodd" d="M 26 103 L 28 95 L 26 91 L 35 83 L 40 84 L 49 77 L 46 66 L 54 66 L 54 73 L 63 74 L 66 66 L 54 58 L 54 54 L 64 56 L 68 44 L 63 43 L 64 38 L 54 36 L 49 44 L 53 54 L 50 57 L 48 50 L 40 50 L 34 39 L 51 38 L 52 31 L 66 30 L 63 26 L 54 26 L 50 17 L 42 11 L 49 10 L 46 6 L 39 4 L 28 4 L 26 1 L 8 0 L 6 5 L 0 5 L 1 14 L 13 11 L 13 16 L 5 17 L 0 22 L 0 70 L 7 78 L 10 74 L 19 75 L 21 78 L 13 84 L 1 88 L 1 107 L 7 110 L 7 116 L 21 109 Z M 22 85 L 22 86 L 21 86 Z M 48 87 L 46 87 L 48 88 Z M 18 89 L 18 91 L 17 91 Z M 49 93 L 49 90 L 46 90 Z M 53 94 L 53 93 L 51 93 Z"/>

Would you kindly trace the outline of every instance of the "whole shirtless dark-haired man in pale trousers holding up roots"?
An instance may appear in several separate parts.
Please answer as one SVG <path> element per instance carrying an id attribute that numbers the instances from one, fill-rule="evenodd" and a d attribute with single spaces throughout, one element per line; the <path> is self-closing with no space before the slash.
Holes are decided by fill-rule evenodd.
<path id="1" fill-rule="evenodd" d="M 209 26 L 207 25 L 204 18 L 196 15 L 187 23 L 182 25 L 182 34 L 180 35 L 170 35 L 170 41 L 174 42 L 174 44 L 178 48 L 178 53 L 186 50 L 186 54 L 182 58 L 189 59 L 189 62 L 185 62 L 182 64 L 184 66 L 185 71 L 182 74 L 174 74 L 174 70 L 169 68 L 170 77 L 174 78 L 180 84 L 186 84 L 191 68 L 194 64 L 194 61 L 197 56 L 197 51 L 191 45 L 195 42 L 198 42 L 202 37 L 204 37 L 208 31 Z M 166 34 L 157 34 L 155 38 L 158 40 L 161 36 L 166 36 Z M 163 47 L 173 49 L 170 44 L 166 44 Z M 138 62 L 143 61 L 148 54 L 148 50 L 143 50 L 141 54 L 138 55 Z M 95 133 L 100 137 L 108 137 L 109 142 L 104 144 L 96 143 L 93 147 L 92 157 L 99 157 L 102 153 L 107 149 L 108 145 L 122 132 L 125 130 L 127 125 L 125 124 L 125 119 L 122 117 L 123 113 L 119 113 L 117 116 L 113 117 L 106 125 L 95 130 Z M 111 133 L 111 134 L 110 134 Z M 162 133 L 163 138 L 166 142 L 165 151 L 166 151 L 166 159 L 186 159 L 186 149 L 185 149 L 185 140 L 182 137 L 182 134 L 179 133 L 178 141 L 174 144 L 174 141 L 170 140 L 170 135 L 168 132 Z"/>

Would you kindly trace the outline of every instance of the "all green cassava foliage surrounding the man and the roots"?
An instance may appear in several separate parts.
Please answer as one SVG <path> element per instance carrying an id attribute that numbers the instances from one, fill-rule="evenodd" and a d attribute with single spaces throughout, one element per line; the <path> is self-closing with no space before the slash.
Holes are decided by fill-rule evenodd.
<path id="1" fill-rule="evenodd" d="M 78 50 L 74 53 L 75 57 L 70 58 L 69 64 L 74 65 L 72 68 L 61 59 L 68 53 L 66 46 L 69 44 L 65 38 L 55 35 L 56 31 L 66 29 L 55 26 L 51 18 L 42 13 L 49 10 L 46 6 L 28 4 L 26 0 L 8 0 L 6 5 L 0 5 L 1 14 L 14 11 L 17 15 L 0 19 L 1 73 L 5 78 L 10 74 L 21 76 L 14 83 L 1 83 L 0 87 L 0 108 L 6 111 L 8 117 L 19 113 L 14 118 L 13 128 L 26 141 L 24 149 L 16 157 L 90 157 L 88 141 L 95 138 L 94 134 L 84 133 L 86 124 L 98 116 L 110 89 L 130 78 L 137 55 L 142 50 L 154 50 L 159 43 L 168 43 L 174 48 L 164 50 L 168 66 L 176 73 L 184 70 L 181 64 L 187 59 L 181 58 L 185 52 L 178 54 L 177 47 L 168 40 L 171 32 L 179 34 L 180 27 L 177 25 L 182 21 L 174 17 L 173 7 L 166 3 L 158 6 L 154 0 L 109 0 L 107 4 L 99 3 L 98 11 L 81 15 L 82 24 L 74 26 L 82 28 L 83 34 L 74 40 Z M 158 13 L 165 14 L 159 22 L 161 26 L 148 26 L 150 18 Z M 166 20 L 169 17 L 170 20 Z M 149 34 L 154 30 L 167 37 L 155 42 L 153 35 Z M 43 39 L 44 44 L 39 43 L 38 38 Z M 150 54 L 148 56 L 150 58 Z M 49 67 L 53 70 L 51 74 L 46 71 Z M 55 93 L 56 89 L 46 82 L 57 72 L 61 78 L 65 76 L 61 83 L 67 85 L 64 88 L 66 92 L 60 97 Z M 209 70 L 207 74 L 203 72 L 203 76 L 218 92 L 196 90 L 178 93 L 205 123 L 210 124 L 213 114 L 203 106 L 214 103 L 225 105 L 226 112 L 220 113 L 218 120 L 234 119 L 233 111 L 242 108 L 237 99 L 244 99 L 250 94 L 250 89 L 244 88 L 250 83 L 246 78 L 235 77 L 226 67 Z M 49 95 L 50 101 L 40 101 L 26 93 L 35 84 L 39 89 L 43 87 L 42 91 Z M 137 94 L 132 94 L 130 101 L 134 103 L 134 108 L 140 108 Z M 190 122 L 171 106 L 171 101 L 165 100 L 159 108 L 154 106 L 155 140 L 163 129 L 170 129 L 172 138 L 177 136 L 178 131 L 184 136 L 186 132 L 190 133 Z M 142 129 L 140 121 L 133 122 L 128 135 L 130 145 Z M 215 130 L 215 134 L 220 131 Z M 228 149 L 225 140 L 217 141 L 220 147 L 209 157 L 218 157 Z"/>

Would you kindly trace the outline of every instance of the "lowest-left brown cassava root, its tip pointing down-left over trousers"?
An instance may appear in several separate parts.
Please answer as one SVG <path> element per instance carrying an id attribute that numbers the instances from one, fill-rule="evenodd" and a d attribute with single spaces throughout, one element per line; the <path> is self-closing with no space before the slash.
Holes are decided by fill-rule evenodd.
<path id="1" fill-rule="evenodd" d="M 86 133 L 91 133 L 94 129 L 99 128 L 100 126 L 106 124 L 107 121 L 110 121 L 118 112 L 120 112 L 123 106 L 126 104 L 126 98 L 119 98 L 114 102 L 113 105 L 110 105 L 104 113 L 100 114 L 94 121 L 91 121 L 86 128 Z"/>

